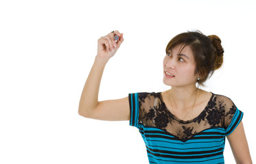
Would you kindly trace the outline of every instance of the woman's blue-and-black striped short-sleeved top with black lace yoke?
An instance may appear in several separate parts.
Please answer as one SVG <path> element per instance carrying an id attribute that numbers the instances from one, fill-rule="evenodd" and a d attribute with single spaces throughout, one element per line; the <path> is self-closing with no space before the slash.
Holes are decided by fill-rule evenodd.
<path id="1" fill-rule="evenodd" d="M 130 126 L 139 129 L 150 163 L 224 163 L 225 137 L 243 117 L 232 100 L 212 94 L 193 120 L 179 120 L 161 92 L 129 94 Z"/>

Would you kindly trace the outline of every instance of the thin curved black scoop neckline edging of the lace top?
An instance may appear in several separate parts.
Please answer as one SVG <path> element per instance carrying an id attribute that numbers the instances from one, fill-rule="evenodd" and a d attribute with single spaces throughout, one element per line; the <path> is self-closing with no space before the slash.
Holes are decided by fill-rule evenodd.
<path id="1" fill-rule="evenodd" d="M 212 92 L 210 92 L 210 93 L 211 93 L 211 98 L 209 98 L 209 100 L 208 100 L 207 105 L 205 106 L 205 108 L 196 116 L 196 118 L 192 118 L 191 120 L 181 120 L 181 119 L 177 118 L 176 115 L 174 115 L 174 114 L 170 111 L 170 109 L 168 109 L 168 108 L 166 107 L 165 101 L 163 100 L 162 92 L 159 92 L 159 95 L 160 95 L 160 99 L 161 99 L 161 102 L 162 102 L 164 108 L 165 108 L 168 112 L 170 112 L 170 113 L 172 114 L 172 117 L 174 118 L 174 120 L 176 120 L 176 121 L 178 121 L 178 122 L 181 122 L 181 123 L 183 123 L 183 124 L 187 124 L 187 123 L 190 123 L 190 122 L 194 122 L 195 120 L 198 120 L 198 118 L 200 118 L 200 115 L 202 115 L 202 113 L 206 111 L 207 107 L 209 107 L 209 103 L 211 102 L 211 100 L 213 99 L 213 96 L 215 95 L 215 94 L 213 94 Z"/>

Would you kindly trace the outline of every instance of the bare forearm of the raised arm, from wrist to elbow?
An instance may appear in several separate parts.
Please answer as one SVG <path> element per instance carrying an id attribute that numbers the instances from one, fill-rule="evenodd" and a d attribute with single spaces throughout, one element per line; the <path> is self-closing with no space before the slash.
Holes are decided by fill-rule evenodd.
<path id="1" fill-rule="evenodd" d="M 78 109 L 80 115 L 89 115 L 97 106 L 100 82 L 106 63 L 106 59 L 101 59 L 97 56 L 95 57 L 89 76 L 84 84 L 84 89 L 82 90 Z"/>

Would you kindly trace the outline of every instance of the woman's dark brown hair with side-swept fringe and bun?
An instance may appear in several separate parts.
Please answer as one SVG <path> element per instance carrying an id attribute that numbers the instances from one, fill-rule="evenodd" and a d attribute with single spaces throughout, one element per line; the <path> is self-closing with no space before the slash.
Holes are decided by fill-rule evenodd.
<path id="1" fill-rule="evenodd" d="M 197 81 L 199 85 L 211 77 L 214 70 L 222 66 L 223 53 L 221 40 L 216 35 L 205 36 L 200 31 L 188 31 L 180 33 L 170 40 L 166 46 L 166 53 L 175 46 L 181 45 L 181 52 L 185 46 L 189 46 L 194 55 L 196 62 L 195 74 L 200 74 L 200 79 Z"/>

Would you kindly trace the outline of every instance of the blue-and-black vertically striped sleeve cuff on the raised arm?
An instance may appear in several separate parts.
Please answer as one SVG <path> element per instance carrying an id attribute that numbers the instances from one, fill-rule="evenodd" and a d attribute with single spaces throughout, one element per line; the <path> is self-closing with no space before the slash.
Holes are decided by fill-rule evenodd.
<path id="1" fill-rule="evenodd" d="M 139 127 L 139 94 L 129 94 L 130 126 Z"/>

